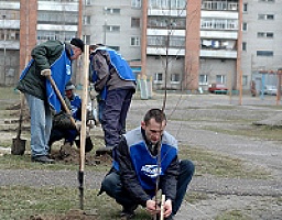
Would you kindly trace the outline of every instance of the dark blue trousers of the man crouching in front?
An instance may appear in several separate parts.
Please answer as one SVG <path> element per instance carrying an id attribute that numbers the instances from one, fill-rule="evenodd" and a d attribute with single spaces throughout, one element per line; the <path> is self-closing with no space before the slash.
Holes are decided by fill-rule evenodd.
<path id="1" fill-rule="evenodd" d="M 188 161 L 184 160 L 180 163 L 180 176 L 177 177 L 176 197 L 172 202 L 172 215 L 176 215 L 181 208 L 183 198 L 186 194 L 187 187 L 194 175 L 195 166 Z M 135 201 L 129 197 L 128 191 L 122 188 L 120 175 L 118 172 L 109 173 L 101 183 L 101 191 L 116 199 L 118 204 L 123 207 L 132 207 Z"/>

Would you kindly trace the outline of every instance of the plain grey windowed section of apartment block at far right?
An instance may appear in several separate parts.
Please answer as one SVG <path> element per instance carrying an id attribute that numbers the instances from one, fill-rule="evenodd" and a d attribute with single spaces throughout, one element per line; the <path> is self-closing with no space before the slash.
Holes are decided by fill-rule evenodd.
<path id="1" fill-rule="evenodd" d="M 246 82 L 276 85 L 282 68 L 282 1 L 242 0 L 241 69 Z M 245 82 L 245 80 L 243 80 Z"/>

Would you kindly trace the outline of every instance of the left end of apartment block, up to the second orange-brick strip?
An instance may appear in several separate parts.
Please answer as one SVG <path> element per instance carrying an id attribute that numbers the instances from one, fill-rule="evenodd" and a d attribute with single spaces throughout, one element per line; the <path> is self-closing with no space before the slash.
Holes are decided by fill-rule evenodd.
<path id="1" fill-rule="evenodd" d="M 1 85 L 18 81 L 36 44 L 79 35 L 79 0 L 1 0 L 0 14 Z"/>

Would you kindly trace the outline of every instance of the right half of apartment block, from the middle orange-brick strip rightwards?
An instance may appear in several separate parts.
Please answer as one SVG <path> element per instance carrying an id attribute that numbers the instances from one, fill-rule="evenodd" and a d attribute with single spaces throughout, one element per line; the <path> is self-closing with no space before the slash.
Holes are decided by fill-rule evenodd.
<path id="1" fill-rule="evenodd" d="M 143 2 L 143 63 L 145 74 L 154 76 L 154 88 L 164 88 L 165 76 L 167 88 L 185 90 L 207 90 L 212 82 L 249 90 L 251 80 L 259 90 L 261 73 L 269 72 L 274 73 L 270 84 L 278 81 L 282 41 L 274 36 L 281 35 L 281 1 Z"/>

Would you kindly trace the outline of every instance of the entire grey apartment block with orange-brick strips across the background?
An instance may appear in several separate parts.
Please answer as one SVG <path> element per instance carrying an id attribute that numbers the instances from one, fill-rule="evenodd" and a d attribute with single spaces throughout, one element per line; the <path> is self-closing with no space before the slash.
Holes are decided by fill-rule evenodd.
<path id="1" fill-rule="evenodd" d="M 280 0 L 0 3 L 2 84 L 17 80 L 36 43 L 73 36 L 117 50 L 137 75 L 153 77 L 154 89 L 163 89 L 166 84 L 169 89 L 207 90 L 212 82 L 249 89 L 251 80 L 261 84 L 261 73 L 275 73 L 282 67 Z M 77 73 L 75 81 L 79 82 Z"/>

